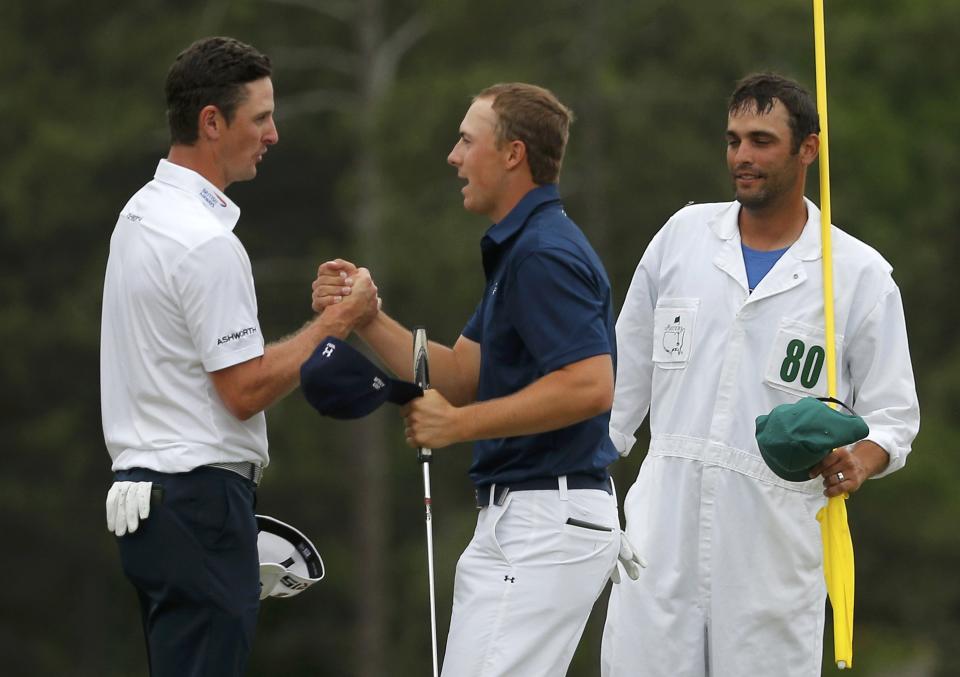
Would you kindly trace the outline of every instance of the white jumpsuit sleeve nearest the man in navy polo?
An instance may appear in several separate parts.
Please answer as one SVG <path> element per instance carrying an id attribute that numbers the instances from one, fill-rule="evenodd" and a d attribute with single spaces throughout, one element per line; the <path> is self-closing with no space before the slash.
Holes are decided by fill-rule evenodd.
<path id="1" fill-rule="evenodd" d="M 661 230 L 633 274 L 617 317 L 617 381 L 610 413 L 610 439 L 621 456 L 630 453 L 634 433 L 650 409 L 653 379 L 653 311 L 659 288 Z"/>

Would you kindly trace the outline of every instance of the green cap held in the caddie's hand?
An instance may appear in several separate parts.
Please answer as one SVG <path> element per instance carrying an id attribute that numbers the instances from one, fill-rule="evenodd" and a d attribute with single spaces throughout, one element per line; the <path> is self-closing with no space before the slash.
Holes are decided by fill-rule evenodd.
<path id="1" fill-rule="evenodd" d="M 810 469 L 831 450 L 862 440 L 869 432 L 856 414 L 847 416 L 816 397 L 781 404 L 757 417 L 760 455 L 770 470 L 790 482 L 806 482 Z"/>

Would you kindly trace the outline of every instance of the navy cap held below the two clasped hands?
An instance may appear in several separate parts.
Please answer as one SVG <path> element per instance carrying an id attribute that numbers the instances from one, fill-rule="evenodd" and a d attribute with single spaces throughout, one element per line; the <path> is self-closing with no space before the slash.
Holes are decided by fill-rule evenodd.
<path id="1" fill-rule="evenodd" d="M 335 336 L 323 339 L 300 366 L 300 386 L 307 402 L 332 418 L 360 418 L 384 402 L 406 404 L 423 396 L 420 386 L 388 376 Z"/>

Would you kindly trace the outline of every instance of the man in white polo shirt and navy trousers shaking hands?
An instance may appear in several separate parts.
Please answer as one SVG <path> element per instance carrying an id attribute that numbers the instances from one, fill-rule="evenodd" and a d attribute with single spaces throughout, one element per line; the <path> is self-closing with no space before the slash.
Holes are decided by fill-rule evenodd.
<path id="1" fill-rule="evenodd" d="M 264 346 L 250 260 L 223 191 L 278 140 L 270 60 L 200 40 L 166 81 L 171 147 L 123 208 L 103 292 L 103 429 L 115 482 L 107 526 L 137 589 L 150 674 L 243 673 L 259 607 L 256 485 L 263 410 L 293 390 L 328 335 L 376 313 L 348 299 Z"/>

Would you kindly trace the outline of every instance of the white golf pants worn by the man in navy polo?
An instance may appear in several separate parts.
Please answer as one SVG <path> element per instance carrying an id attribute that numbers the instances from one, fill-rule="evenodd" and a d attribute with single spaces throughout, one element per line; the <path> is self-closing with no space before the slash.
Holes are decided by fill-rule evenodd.
<path id="1" fill-rule="evenodd" d="M 480 510 L 457 564 L 443 677 L 566 674 L 616 565 L 620 523 L 614 496 L 560 485 Z"/>

